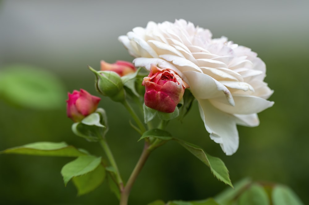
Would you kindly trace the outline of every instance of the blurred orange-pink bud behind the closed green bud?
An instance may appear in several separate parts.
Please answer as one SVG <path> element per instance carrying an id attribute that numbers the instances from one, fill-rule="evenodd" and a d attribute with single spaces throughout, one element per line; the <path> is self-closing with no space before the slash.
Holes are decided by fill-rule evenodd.
<path id="1" fill-rule="evenodd" d="M 113 64 L 101 60 L 101 71 L 114 71 L 122 77 L 135 72 L 136 68 L 132 63 L 123 60 L 118 60 Z"/>

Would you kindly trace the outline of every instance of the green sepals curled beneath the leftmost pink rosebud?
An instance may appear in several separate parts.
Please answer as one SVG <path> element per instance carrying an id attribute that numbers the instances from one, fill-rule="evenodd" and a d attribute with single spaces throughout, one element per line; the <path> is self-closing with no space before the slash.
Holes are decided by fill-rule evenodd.
<path id="1" fill-rule="evenodd" d="M 98 112 L 92 113 L 85 117 L 81 122 L 72 125 L 72 131 L 79 137 L 83 137 L 88 141 L 99 141 L 108 131 L 108 127 L 102 125 L 107 123 L 105 111 L 98 109 Z"/>

